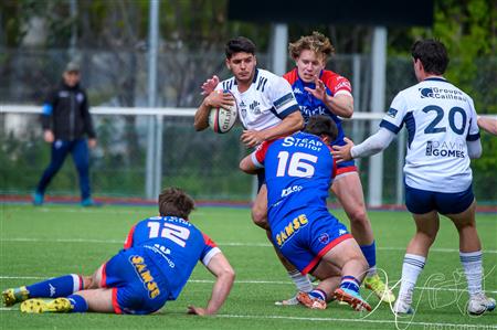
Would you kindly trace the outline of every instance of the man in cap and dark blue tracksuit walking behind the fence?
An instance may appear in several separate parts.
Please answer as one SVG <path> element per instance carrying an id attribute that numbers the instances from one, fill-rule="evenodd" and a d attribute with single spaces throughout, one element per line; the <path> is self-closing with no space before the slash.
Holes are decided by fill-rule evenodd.
<path id="1" fill-rule="evenodd" d="M 80 65 L 70 62 L 62 78 L 61 84 L 50 92 L 43 104 L 43 137 L 52 145 L 52 157 L 38 183 L 33 204 L 43 204 L 46 187 L 71 153 L 80 177 L 81 203 L 83 206 L 92 206 L 94 202 L 89 189 L 88 147 L 96 146 L 96 135 L 86 93 L 80 86 Z"/>

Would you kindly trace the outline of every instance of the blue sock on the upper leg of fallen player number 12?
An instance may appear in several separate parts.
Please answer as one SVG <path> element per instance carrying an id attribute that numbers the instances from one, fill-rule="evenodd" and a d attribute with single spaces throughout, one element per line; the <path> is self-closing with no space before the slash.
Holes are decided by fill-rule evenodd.
<path id="1" fill-rule="evenodd" d="M 25 287 L 30 298 L 67 297 L 83 289 L 83 278 L 76 274 L 54 277 Z"/>

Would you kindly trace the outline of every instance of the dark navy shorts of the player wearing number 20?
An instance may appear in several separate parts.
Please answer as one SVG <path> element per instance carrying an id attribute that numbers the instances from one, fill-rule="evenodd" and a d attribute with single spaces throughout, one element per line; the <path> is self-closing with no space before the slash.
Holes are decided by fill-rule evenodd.
<path id="1" fill-rule="evenodd" d="M 405 184 L 405 206 L 409 212 L 424 214 L 436 211 L 441 214 L 464 212 L 475 200 L 473 185 L 462 192 L 446 193 L 411 188 Z"/>

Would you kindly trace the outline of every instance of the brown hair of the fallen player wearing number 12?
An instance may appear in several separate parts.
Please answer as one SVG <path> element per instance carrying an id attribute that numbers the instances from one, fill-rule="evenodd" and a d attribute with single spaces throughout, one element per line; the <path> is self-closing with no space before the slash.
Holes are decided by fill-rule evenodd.
<path id="1" fill-rule="evenodd" d="M 191 211 L 195 209 L 195 202 L 179 188 L 167 188 L 159 195 L 160 216 L 178 216 L 188 220 Z"/>

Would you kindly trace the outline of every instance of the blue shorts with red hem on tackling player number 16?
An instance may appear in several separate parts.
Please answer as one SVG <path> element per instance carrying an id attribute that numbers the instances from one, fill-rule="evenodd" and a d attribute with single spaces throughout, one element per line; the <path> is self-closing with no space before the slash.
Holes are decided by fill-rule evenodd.
<path id="1" fill-rule="evenodd" d="M 327 252 L 352 238 L 326 210 L 294 212 L 271 231 L 276 247 L 304 275 L 311 273 Z"/>

